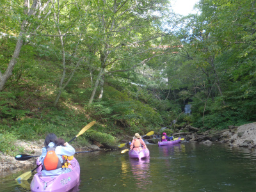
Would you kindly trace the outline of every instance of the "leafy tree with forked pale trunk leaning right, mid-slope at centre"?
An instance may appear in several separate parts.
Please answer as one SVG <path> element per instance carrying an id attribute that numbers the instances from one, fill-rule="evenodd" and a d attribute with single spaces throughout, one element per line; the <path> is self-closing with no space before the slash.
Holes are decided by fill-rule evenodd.
<path id="1" fill-rule="evenodd" d="M 152 51 L 152 41 L 166 35 L 157 29 L 157 16 L 153 14 L 163 10 L 161 7 L 166 3 L 166 1 L 100 1 L 91 5 L 90 17 L 94 19 L 91 28 L 97 33 L 90 33 L 90 36 L 100 42 L 97 44 L 96 53 L 99 58 L 97 63 L 100 63 L 100 66 L 89 104 L 93 102 L 99 83 L 103 88 L 106 74 L 113 74 L 113 71 L 124 68 L 128 70 L 145 63 L 146 58 L 141 57 L 143 58 L 141 61 L 139 53 L 148 54 L 148 51 Z M 151 56 L 146 60 L 150 60 Z"/>

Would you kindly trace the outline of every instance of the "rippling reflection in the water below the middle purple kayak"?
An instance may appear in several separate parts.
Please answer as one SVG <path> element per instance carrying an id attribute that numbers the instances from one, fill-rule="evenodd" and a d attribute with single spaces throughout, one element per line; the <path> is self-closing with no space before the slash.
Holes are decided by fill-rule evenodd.
<path id="1" fill-rule="evenodd" d="M 131 171 L 136 179 L 136 186 L 140 189 L 148 189 L 152 184 L 150 180 L 149 157 L 146 159 L 129 159 Z"/>

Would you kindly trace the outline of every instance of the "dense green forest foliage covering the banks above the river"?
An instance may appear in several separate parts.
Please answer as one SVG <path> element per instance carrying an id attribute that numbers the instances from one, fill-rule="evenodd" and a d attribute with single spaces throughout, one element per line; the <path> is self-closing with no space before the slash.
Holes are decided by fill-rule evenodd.
<path id="1" fill-rule="evenodd" d="M 92 120 L 79 145 L 256 120 L 254 1 L 201 0 L 187 17 L 166 0 L 2 2 L 2 152 Z"/>

